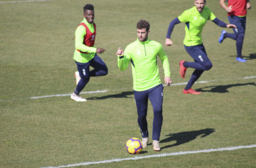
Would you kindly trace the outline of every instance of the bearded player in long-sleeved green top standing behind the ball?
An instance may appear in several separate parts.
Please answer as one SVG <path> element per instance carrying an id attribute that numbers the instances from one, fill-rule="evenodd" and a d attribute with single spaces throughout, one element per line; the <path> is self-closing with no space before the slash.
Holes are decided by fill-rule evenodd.
<path id="1" fill-rule="evenodd" d="M 159 76 L 157 56 L 162 61 L 164 68 L 164 82 L 170 85 L 170 69 L 168 57 L 159 42 L 149 40 L 150 24 L 146 20 L 137 22 L 137 40 L 125 48 L 125 52 L 119 48 L 117 50 L 117 62 L 121 71 L 127 69 L 131 62 L 133 73 L 133 93 L 137 106 L 137 122 L 142 134 L 143 148 L 148 145 L 148 99 L 150 99 L 153 111 L 153 131 L 152 139 L 155 151 L 160 151 L 159 138 L 162 128 L 162 101 L 163 85 Z"/>

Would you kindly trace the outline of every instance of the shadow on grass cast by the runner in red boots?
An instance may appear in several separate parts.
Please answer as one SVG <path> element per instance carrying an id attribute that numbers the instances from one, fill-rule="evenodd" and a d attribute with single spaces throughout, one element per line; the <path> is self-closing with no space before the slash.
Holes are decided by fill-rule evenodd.
<path id="1" fill-rule="evenodd" d="M 234 85 L 218 85 L 218 86 L 208 86 L 208 87 L 202 87 L 199 89 L 195 89 L 196 91 L 200 91 L 200 92 L 214 92 L 214 93 L 228 93 L 228 88 L 230 87 L 238 87 L 238 86 L 245 86 L 245 85 L 255 85 L 255 83 L 243 83 L 243 84 L 234 84 Z M 204 90 L 207 88 L 211 88 L 210 90 Z"/>

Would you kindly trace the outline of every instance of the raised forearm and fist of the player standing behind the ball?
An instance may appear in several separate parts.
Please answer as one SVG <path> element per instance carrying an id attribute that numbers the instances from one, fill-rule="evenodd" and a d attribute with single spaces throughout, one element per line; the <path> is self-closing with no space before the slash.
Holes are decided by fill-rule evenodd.
<path id="1" fill-rule="evenodd" d="M 126 50 L 127 48 L 125 49 L 125 52 L 123 52 L 123 50 L 120 47 L 117 50 L 117 65 L 121 71 L 125 71 L 125 69 L 127 69 L 129 62 L 131 60 Z"/>

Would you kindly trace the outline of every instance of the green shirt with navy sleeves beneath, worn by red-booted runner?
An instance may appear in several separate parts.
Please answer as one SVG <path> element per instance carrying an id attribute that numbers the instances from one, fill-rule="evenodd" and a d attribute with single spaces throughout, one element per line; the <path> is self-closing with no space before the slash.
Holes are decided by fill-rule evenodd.
<path id="1" fill-rule="evenodd" d="M 215 18 L 216 16 L 208 7 L 204 7 L 201 13 L 197 11 L 197 7 L 192 7 L 179 15 L 178 19 L 186 23 L 186 35 L 183 41 L 185 46 L 202 44 L 201 32 L 203 26 L 205 26 L 207 20 L 214 20 Z"/>

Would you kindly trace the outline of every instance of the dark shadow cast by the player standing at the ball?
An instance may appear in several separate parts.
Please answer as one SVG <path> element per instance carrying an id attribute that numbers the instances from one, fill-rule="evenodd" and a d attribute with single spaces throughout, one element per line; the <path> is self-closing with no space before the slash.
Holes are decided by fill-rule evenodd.
<path id="1" fill-rule="evenodd" d="M 179 146 L 180 144 L 185 144 L 187 142 L 190 142 L 191 140 L 194 140 L 197 138 L 197 136 L 201 135 L 201 138 L 208 136 L 215 132 L 214 128 L 207 128 L 204 130 L 195 130 L 195 131 L 189 131 L 189 132 L 180 132 L 177 134 L 168 134 L 168 138 L 165 138 L 163 140 L 160 140 L 160 143 L 164 142 L 170 142 L 170 141 L 176 141 L 175 144 L 167 145 L 161 147 L 161 149 L 170 148 L 172 146 Z"/>

